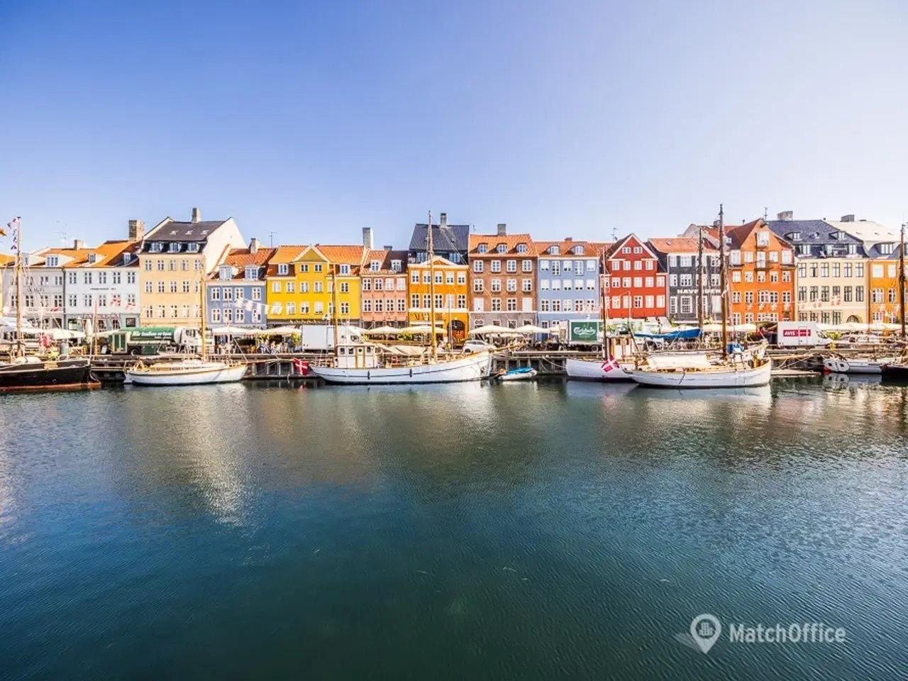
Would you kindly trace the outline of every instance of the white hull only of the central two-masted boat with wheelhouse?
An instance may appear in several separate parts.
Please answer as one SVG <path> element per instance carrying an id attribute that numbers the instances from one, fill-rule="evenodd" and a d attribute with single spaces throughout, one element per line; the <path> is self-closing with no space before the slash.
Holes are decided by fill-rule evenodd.
<path id="1" fill-rule="evenodd" d="M 488 352 L 471 354 L 459 360 L 423 364 L 416 367 L 380 369 L 335 369 L 312 367 L 311 371 L 327 383 L 345 385 L 409 385 L 419 383 L 459 383 L 489 377 L 492 356 Z"/>

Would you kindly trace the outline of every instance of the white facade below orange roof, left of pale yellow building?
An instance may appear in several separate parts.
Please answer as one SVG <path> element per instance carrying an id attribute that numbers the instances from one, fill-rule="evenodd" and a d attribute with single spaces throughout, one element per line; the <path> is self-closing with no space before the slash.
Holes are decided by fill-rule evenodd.
<path id="1" fill-rule="evenodd" d="M 95 304 L 99 330 L 139 325 L 138 267 L 64 267 L 64 275 L 67 326 L 84 328 L 94 318 Z"/>

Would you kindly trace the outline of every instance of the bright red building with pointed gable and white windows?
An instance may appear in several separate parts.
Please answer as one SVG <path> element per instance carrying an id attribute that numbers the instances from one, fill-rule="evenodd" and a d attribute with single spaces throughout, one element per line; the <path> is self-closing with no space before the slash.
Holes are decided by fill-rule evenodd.
<path id="1" fill-rule="evenodd" d="M 631 234 L 619 239 L 606 255 L 608 316 L 611 319 L 667 316 L 666 271 L 656 252 Z"/>

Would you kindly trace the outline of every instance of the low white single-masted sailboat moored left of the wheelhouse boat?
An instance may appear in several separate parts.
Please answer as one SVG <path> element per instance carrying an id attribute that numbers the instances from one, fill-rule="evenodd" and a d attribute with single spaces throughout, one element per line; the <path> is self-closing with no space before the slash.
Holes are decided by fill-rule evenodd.
<path id="1" fill-rule="evenodd" d="M 126 370 L 126 383 L 135 385 L 209 385 L 212 383 L 236 383 L 246 373 L 245 364 L 208 359 L 208 343 L 205 341 L 205 268 L 199 281 L 199 297 L 202 301 L 202 348 L 200 358 L 187 357 L 183 360 L 143 364 L 139 362 Z"/>

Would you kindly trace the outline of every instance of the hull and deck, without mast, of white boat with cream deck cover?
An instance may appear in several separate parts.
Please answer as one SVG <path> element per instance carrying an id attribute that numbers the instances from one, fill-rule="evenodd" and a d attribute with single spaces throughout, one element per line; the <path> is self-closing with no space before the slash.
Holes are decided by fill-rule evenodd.
<path id="1" fill-rule="evenodd" d="M 730 358 L 715 364 L 706 355 L 693 354 L 683 360 L 675 356 L 670 361 L 660 361 L 650 356 L 647 364 L 629 371 L 637 383 L 656 388 L 757 388 L 769 383 L 773 361 L 755 355 Z"/>

